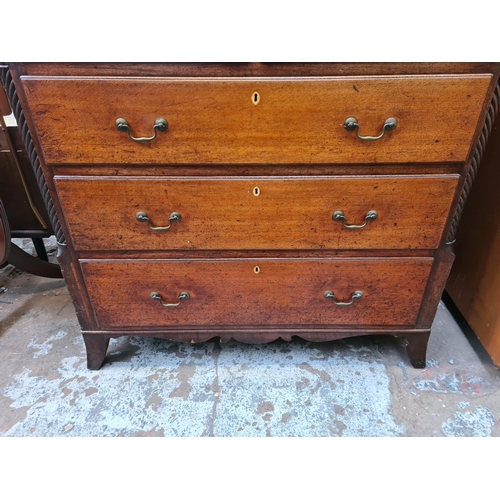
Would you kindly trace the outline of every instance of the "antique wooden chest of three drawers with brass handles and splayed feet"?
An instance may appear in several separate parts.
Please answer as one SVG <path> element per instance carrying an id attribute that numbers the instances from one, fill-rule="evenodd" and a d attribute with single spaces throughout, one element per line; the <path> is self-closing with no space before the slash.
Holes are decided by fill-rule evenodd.
<path id="1" fill-rule="evenodd" d="M 121 335 L 390 334 L 425 366 L 496 64 L 9 70 L 89 368 Z"/>

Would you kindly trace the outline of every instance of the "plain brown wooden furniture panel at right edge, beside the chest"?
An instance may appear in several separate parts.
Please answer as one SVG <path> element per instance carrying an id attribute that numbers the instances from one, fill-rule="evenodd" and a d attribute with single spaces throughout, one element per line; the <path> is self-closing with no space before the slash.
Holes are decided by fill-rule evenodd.
<path id="1" fill-rule="evenodd" d="M 495 95 L 498 109 L 499 98 Z M 500 367 L 500 114 L 464 209 L 446 291 Z"/>

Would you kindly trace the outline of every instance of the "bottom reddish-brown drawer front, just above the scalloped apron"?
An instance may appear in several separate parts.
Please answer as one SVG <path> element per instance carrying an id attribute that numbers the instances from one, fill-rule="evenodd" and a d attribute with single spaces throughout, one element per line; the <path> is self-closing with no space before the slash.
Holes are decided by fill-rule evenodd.
<path id="1" fill-rule="evenodd" d="M 88 260 L 81 266 L 100 328 L 218 325 L 220 329 L 413 325 L 432 261 Z M 183 292 L 189 298 L 179 298 Z M 325 297 L 325 292 L 333 297 Z M 355 292 L 362 296 L 353 298 Z M 158 298 L 151 298 L 152 293 Z M 179 305 L 166 307 L 160 299 Z"/>

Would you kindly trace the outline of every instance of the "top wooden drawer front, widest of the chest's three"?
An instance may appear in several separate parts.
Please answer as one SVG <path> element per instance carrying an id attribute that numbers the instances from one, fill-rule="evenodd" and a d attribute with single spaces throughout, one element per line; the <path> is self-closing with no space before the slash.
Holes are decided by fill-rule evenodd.
<path id="1" fill-rule="evenodd" d="M 465 161 L 491 75 L 23 80 L 47 163 Z M 356 118 L 361 136 L 344 128 Z M 133 137 L 116 128 L 125 119 Z"/>

